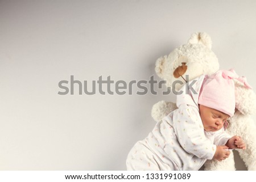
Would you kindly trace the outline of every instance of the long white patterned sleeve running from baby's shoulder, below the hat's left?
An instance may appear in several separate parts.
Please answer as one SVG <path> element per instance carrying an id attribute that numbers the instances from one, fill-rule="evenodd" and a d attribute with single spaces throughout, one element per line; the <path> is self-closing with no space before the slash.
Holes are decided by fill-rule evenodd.
<path id="1" fill-rule="evenodd" d="M 199 158 L 212 159 L 216 145 L 205 137 L 197 108 L 186 104 L 174 111 L 173 125 L 177 139 L 185 151 Z"/>

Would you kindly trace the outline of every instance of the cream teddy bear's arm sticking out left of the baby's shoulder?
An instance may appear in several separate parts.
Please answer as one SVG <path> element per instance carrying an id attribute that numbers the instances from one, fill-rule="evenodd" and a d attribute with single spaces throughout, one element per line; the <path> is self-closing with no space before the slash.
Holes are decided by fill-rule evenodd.
<path id="1" fill-rule="evenodd" d="M 177 109 L 175 103 L 171 101 L 159 101 L 158 103 L 154 104 L 151 110 L 151 116 L 154 118 L 156 122 L 161 121 L 163 117 L 167 116 L 170 112 Z"/>

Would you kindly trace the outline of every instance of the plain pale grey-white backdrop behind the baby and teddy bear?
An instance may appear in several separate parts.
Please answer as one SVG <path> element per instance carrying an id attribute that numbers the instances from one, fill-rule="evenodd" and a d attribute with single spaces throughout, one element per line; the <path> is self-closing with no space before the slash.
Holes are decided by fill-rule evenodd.
<path id="1" fill-rule="evenodd" d="M 126 170 L 152 105 L 175 98 L 58 95 L 58 83 L 158 79 L 156 59 L 201 31 L 220 68 L 256 88 L 255 17 L 255 1 L 0 1 L 0 170 Z"/>

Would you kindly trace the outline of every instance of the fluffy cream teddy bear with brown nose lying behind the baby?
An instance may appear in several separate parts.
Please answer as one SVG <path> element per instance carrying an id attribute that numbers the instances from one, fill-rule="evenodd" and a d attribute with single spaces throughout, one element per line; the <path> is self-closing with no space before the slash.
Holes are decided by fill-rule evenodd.
<path id="1" fill-rule="evenodd" d="M 166 81 L 168 88 L 179 89 L 188 81 L 202 74 L 210 75 L 219 70 L 218 58 L 212 51 L 212 39 L 205 32 L 195 32 L 187 44 L 181 45 L 168 55 L 156 60 L 156 74 Z M 176 84 L 179 83 L 179 84 Z M 251 115 L 256 112 L 256 95 L 253 90 L 245 88 L 234 79 L 236 94 L 236 112 L 225 125 L 231 136 L 241 136 L 246 143 L 246 150 L 237 150 L 247 170 L 256 170 L 256 132 Z M 151 116 L 156 122 L 162 120 L 168 113 L 176 109 L 171 101 L 159 101 L 151 110 Z M 229 158 L 218 162 L 207 160 L 204 170 L 236 170 L 234 155 L 231 151 Z"/>

